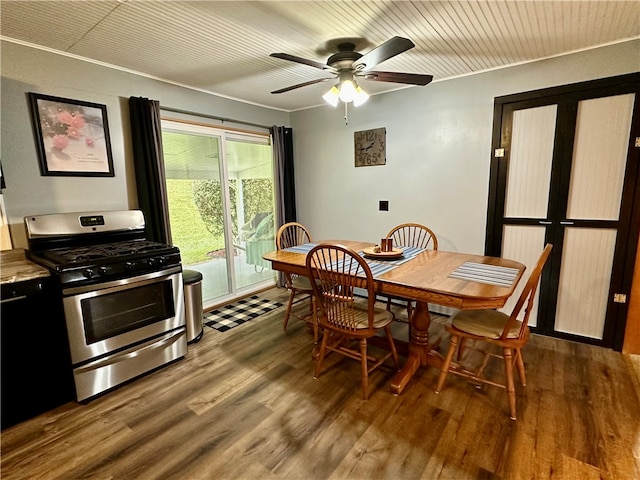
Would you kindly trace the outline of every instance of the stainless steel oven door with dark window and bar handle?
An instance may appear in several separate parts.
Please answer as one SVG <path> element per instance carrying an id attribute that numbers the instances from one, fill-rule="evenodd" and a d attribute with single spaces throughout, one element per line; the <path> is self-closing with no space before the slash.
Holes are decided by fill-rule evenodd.
<path id="1" fill-rule="evenodd" d="M 181 267 L 62 294 L 74 366 L 185 325 Z"/>

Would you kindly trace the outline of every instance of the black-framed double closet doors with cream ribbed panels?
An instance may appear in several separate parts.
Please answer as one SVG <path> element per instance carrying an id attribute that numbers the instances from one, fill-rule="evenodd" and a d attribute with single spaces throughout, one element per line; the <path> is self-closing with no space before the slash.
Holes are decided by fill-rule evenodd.
<path id="1" fill-rule="evenodd" d="M 640 185 L 630 138 L 640 109 L 636 92 L 598 93 L 504 103 L 486 250 L 531 271 L 552 243 L 531 326 L 615 347 L 620 318 L 626 320 L 617 294 L 630 288 L 625 279 L 637 248 Z M 523 286 L 503 311 L 511 311 Z"/>

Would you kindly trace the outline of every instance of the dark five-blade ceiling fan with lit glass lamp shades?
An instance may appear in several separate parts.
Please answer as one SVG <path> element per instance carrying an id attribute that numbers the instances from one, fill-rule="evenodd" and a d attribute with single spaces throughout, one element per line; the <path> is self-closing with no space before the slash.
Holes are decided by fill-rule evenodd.
<path id="1" fill-rule="evenodd" d="M 311 67 L 333 73 L 339 82 L 331 87 L 323 98 L 333 106 L 338 104 L 338 100 L 349 103 L 353 102 L 355 106 L 362 104 L 369 98 L 362 87 L 357 84 L 357 79 L 372 80 L 376 82 L 404 83 L 409 85 L 426 85 L 433 80 L 433 75 L 421 75 L 417 73 L 401 73 L 401 72 L 381 72 L 371 70 L 379 63 L 384 62 L 400 53 L 403 53 L 413 47 L 415 44 L 408 38 L 393 37 L 386 42 L 378 45 L 364 55 L 355 51 L 355 43 L 344 41 L 337 44 L 338 52 L 334 53 L 327 59 L 327 63 L 316 62 L 306 58 L 289 55 L 288 53 L 272 53 L 270 56 L 289 60 L 291 62 L 309 65 Z M 308 82 L 298 83 L 290 87 L 274 90 L 271 93 L 284 93 L 300 87 L 314 85 L 320 82 L 327 82 L 332 78 L 318 78 Z"/>

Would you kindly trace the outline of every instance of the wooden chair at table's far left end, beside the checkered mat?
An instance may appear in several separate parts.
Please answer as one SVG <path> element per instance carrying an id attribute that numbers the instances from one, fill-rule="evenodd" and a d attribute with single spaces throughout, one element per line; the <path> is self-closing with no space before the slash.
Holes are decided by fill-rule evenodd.
<path id="1" fill-rule="evenodd" d="M 282 225 L 276 233 L 276 248 L 283 250 L 285 248 L 295 247 L 297 245 L 303 245 L 305 243 L 311 243 L 311 234 L 309 230 L 297 222 L 289 222 Z M 289 301 L 287 302 L 287 308 L 284 313 L 283 328 L 287 331 L 287 325 L 291 316 L 308 322 L 309 316 L 299 316 L 291 312 L 293 307 L 293 300 L 296 295 L 307 295 L 309 297 L 309 309 L 311 315 L 311 327 L 313 328 L 313 341 L 318 343 L 318 322 L 315 317 L 315 300 L 313 298 L 313 289 L 311 288 L 311 282 L 308 277 L 296 275 L 293 273 L 284 273 L 285 287 L 289 290 Z"/>

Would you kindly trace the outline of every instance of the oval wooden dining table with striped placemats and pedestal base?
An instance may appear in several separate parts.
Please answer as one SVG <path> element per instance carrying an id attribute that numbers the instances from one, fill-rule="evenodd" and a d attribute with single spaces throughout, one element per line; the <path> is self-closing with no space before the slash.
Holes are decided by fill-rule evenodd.
<path id="1" fill-rule="evenodd" d="M 373 247 L 373 243 L 353 240 L 316 243 L 340 244 L 359 253 Z M 268 252 L 263 258 L 271 262 L 273 270 L 307 276 L 305 252 L 313 245 Z M 368 262 L 373 267 L 377 294 L 416 302 L 409 319 L 407 360 L 391 380 L 394 394 L 402 393 L 419 367 L 442 366 L 443 357 L 429 338 L 429 303 L 460 310 L 500 308 L 515 291 L 526 268 L 506 258 L 443 250 L 422 250 L 410 258 Z M 382 273 L 376 274 L 376 270 Z"/>

